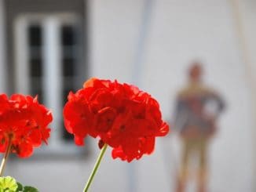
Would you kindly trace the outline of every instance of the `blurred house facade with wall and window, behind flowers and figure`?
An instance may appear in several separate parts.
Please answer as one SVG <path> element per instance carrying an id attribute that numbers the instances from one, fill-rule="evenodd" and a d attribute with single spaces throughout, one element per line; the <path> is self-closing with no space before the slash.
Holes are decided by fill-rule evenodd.
<path id="1" fill-rule="evenodd" d="M 177 92 L 199 60 L 203 82 L 226 103 L 209 146 L 207 191 L 256 191 L 255 34 L 255 0 L 0 0 L 0 92 L 38 94 L 55 118 L 49 146 L 11 158 L 5 174 L 42 192 L 82 191 L 99 151 L 93 139 L 75 147 L 64 131 L 69 90 L 90 77 L 133 83 L 171 125 Z M 140 161 L 114 161 L 108 150 L 91 191 L 176 191 L 180 156 L 174 128 Z"/>

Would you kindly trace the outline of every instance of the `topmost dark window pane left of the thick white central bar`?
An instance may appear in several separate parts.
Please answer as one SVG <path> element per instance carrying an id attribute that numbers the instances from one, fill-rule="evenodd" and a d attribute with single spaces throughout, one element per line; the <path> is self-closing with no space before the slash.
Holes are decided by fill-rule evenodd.
<path id="1" fill-rule="evenodd" d="M 42 29 L 39 25 L 28 27 L 28 41 L 31 46 L 42 45 Z"/>

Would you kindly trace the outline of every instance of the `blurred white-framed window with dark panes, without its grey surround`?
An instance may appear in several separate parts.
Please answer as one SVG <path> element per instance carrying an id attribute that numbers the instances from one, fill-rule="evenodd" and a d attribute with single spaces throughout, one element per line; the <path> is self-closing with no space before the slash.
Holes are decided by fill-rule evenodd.
<path id="1" fill-rule="evenodd" d="M 52 150 L 73 146 L 73 137 L 64 129 L 62 108 L 68 92 L 81 86 L 79 80 L 86 76 L 80 22 L 71 14 L 29 15 L 15 22 L 16 89 L 38 95 L 53 110 Z"/>

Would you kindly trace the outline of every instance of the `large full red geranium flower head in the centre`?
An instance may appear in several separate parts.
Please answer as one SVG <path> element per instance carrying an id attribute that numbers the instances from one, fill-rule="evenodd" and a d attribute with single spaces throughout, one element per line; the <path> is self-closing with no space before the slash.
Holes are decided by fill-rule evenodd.
<path id="1" fill-rule="evenodd" d="M 159 104 L 133 85 L 91 78 L 83 89 L 70 92 L 64 107 L 64 125 L 83 145 L 87 136 L 113 147 L 112 157 L 123 161 L 151 154 L 155 136 L 165 136 Z"/>

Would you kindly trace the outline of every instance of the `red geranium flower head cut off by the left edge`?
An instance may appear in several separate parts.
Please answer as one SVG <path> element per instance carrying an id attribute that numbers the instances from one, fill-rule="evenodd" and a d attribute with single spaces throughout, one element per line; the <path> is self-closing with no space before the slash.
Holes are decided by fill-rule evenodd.
<path id="1" fill-rule="evenodd" d="M 14 94 L 8 100 L 5 94 L 0 95 L 0 152 L 11 142 L 11 152 L 20 158 L 31 156 L 33 147 L 47 143 L 51 121 L 52 114 L 37 97 Z"/>

